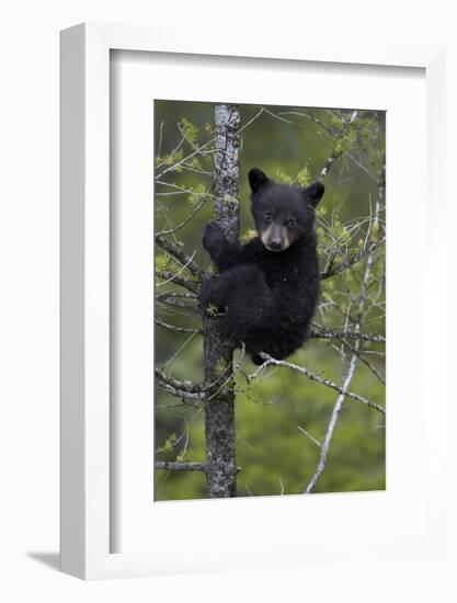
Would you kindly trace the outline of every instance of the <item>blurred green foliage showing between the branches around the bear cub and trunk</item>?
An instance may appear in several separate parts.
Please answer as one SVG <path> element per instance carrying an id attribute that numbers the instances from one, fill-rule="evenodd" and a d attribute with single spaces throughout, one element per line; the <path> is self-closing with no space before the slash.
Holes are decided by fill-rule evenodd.
<path id="1" fill-rule="evenodd" d="M 308 110 L 270 106 L 264 107 L 261 115 L 253 120 L 260 110 L 259 105 L 240 106 L 241 126 L 245 126 L 242 132 L 240 162 L 241 235 L 248 236 L 253 227 L 247 179 L 251 168 L 260 167 L 272 178 L 284 181 L 295 179 L 306 184 L 319 175 L 327 159 L 335 150 L 335 140 L 325 135 L 324 128 L 302 117 L 304 112 Z M 339 128 L 341 130 L 341 123 L 332 117 L 331 112 L 313 109 L 312 115 L 333 132 L 338 133 Z M 338 229 L 342 230 L 343 239 L 347 239 L 344 244 L 350 252 L 361 248 L 361 241 L 363 242 L 366 232 L 364 218 L 373 211 L 377 195 L 376 182 L 368 172 L 377 173 L 380 168 L 379 158 L 384 158 L 385 153 L 384 115 L 375 114 L 375 122 L 380 124 L 375 134 L 370 129 L 374 115 L 367 112 L 361 115 L 357 136 L 350 130 L 349 136 L 339 143 L 341 148 L 336 150 L 343 155 L 336 159 L 325 178 L 325 194 L 319 209 L 321 217 L 332 223 L 333 234 Z M 210 191 L 210 152 L 206 157 L 195 155 L 192 161 L 187 162 L 190 169 L 179 167 L 162 177 L 160 173 L 191 153 L 196 145 L 210 141 L 213 121 L 213 103 L 155 101 L 156 179 L 199 193 L 188 195 L 175 190 L 178 194 L 168 195 L 163 193 L 173 192 L 173 189 L 156 182 L 156 232 L 185 220 L 203 198 L 202 193 Z M 180 146 L 182 133 L 186 140 Z M 207 150 L 210 150 L 209 143 Z M 353 159 L 344 152 L 347 150 Z M 365 169 L 361 169 L 357 162 Z M 208 266 L 209 260 L 202 248 L 201 238 L 204 225 L 212 216 L 213 205 L 208 198 L 195 217 L 176 231 L 174 239 L 183 244 L 188 254 L 195 251 L 194 259 L 204 268 Z M 357 220 L 362 225 L 358 229 L 344 232 L 344 225 L 355 224 Z M 320 236 L 324 239 L 327 234 L 321 229 Z M 365 317 L 362 330 L 366 333 L 385 334 L 382 253 L 377 253 L 373 283 L 376 287 L 379 283 L 382 284 L 381 309 L 374 308 L 370 316 Z M 322 264 L 324 259 L 323 250 Z M 336 255 L 336 260 L 339 259 L 341 257 Z M 324 300 L 330 292 L 331 297 L 338 300 L 340 289 L 344 289 L 345 293 L 339 302 L 344 310 L 344 299 L 350 295 L 347 292 L 355 295 L 359 286 L 364 262 L 359 264 L 353 271 L 345 271 L 341 276 L 324 281 L 322 299 Z M 171 271 L 179 269 L 179 265 L 159 248 L 156 249 L 156 266 Z M 156 293 L 164 291 L 183 292 L 172 282 L 167 284 L 159 280 Z M 341 330 L 340 315 L 328 314 L 325 325 L 340 327 Z M 192 310 L 186 316 L 181 316 L 160 303 L 156 303 L 157 317 L 182 327 L 201 326 L 198 316 Z M 319 319 L 319 315 L 316 318 Z M 180 349 L 180 353 L 175 355 Z M 288 360 L 341 384 L 347 367 L 347 357 L 341 355 L 341 350 L 342 345 L 338 340 L 312 339 Z M 368 343 L 364 345 L 364 350 L 375 352 L 369 356 L 369 362 L 384 375 L 384 355 L 376 354 L 384 351 L 384 344 Z M 167 365 L 174 355 L 174 360 Z M 164 365 L 167 373 L 179 379 L 201 383 L 202 335 L 190 337 L 187 333 L 157 327 L 156 366 Z M 254 365 L 248 359 L 243 361 L 243 366 L 248 373 L 254 371 Z M 316 470 L 320 450 L 299 428 L 321 442 L 338 394 L 287 368 L 270 367 L 265 371 L 264 377 L 249 391 L 242 392 L 247 387 L 247 380 L 242 375 L 237 375 L 237 385 L 240 389 L 236 402 L 237 462 L 241 467 L 238 476 L 238 496 L 300 493 Z M 357 364 L 350 389 L 377 403 L 385 403 L 385 386 L 361 362 Z M 385 489 L 384 419 L 377 411 L 346 399 L 335 429 L 328 465 L 316 492 Z M 155 433 L 157 460 L 205 459 L 204 414 L 199 403 L 183 405 L 179 399 L 157 388 Z M 205 476 L 199 471 L 156 470 L 155 480 L 156 500 L 195 499 L 206 496 Z"/>

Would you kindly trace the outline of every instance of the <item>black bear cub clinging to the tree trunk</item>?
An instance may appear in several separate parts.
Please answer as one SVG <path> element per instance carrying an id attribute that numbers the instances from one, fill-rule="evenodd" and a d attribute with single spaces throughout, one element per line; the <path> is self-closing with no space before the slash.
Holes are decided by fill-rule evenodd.
<path id="1" fill-rule="evenodd" d="M 284 359 L 307 339 L 319 295 L 315 208 L 324 187 L 279 184 L 258 168 L 249 183 L 259 236 L 240 246 L 206 225 L 203 244 L 219 273 L 205 277 L 199 305 L 261 364 L 262 352 Z"/>

